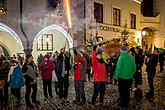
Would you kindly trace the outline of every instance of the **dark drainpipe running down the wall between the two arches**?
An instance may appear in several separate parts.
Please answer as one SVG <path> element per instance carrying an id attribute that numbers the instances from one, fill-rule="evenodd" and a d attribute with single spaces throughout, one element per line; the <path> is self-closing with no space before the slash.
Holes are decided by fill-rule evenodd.
<path id="1" fill-rule="evenodd" d="M 28 37 L 23 29 L 23 14 L 22 14 L 22 9 L 23 9 L 23 0 L 20 0 L 20 27 L 21 31 L 26 39 L 26 48 L 24 48 L 25 54 L 29 54 L 32 52 L 32 49 L 29 48 L 29 40 Z"/>

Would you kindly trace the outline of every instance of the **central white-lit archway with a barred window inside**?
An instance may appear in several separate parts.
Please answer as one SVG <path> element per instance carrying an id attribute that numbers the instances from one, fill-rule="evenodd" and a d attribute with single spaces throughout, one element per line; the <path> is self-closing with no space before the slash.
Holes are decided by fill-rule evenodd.
<path id="1" fill-rule="evenodd" d="M 32 54 L 34 60 L 37 59 L 39 54 L 59 52 L 64 46 L 66 50 L 73 48 L 73 40 L 70 34 L 63 27 L 56 24 L 45 27 L 33 41 Z"/>

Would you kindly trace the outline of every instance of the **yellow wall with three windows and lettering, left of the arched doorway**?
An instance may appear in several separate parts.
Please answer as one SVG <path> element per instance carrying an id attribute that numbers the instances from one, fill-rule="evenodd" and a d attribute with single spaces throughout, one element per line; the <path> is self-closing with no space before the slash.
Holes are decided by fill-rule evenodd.
<path id="1" fill-rule="evenodd" d="M 122 32 L 128 32 L 128 42 L 136 42 L 137 45 L 142 45 L 141 36 L 141 12 L 140 3 L 133 0 L 92 0 L 93 14 L 90 16 L 88 9 L 87 17 L 94 18 L 96 26 L 93 32 L 103 40 L 112 38 L 121 38 Z M 89 3 L 87 3 L 89 4 Z M 128 5 L 129 4 L 129 5 Z M 92 23 L 89 23 L 90 25 Z M 87 31 L 87 39 L 90 39 L 90 28 Z"/>

